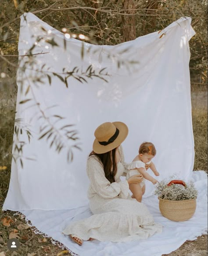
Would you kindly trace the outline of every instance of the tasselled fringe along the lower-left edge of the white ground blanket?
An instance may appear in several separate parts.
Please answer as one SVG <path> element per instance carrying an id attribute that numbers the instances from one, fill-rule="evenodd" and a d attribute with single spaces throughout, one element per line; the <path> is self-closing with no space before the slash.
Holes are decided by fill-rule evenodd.
<path id="1" fill-rule="evenodd" d="M 72 252 L 67 246 L 65 246 L 64 244 L 62 244 L 60 241 L 55 240 L 54 238 L 48 236 L 47 234 L 39 231 L 35 226 L 32 225 L 32 222 L 26 218 L 26 216 L 22 213 L 22 212 L 16 212 L 14 213 L 14 216 L 20 216 L 21 219 L 24 219 L 25 222 L 28 224 L 29 227 L 31 227 L 31 230 L 35 233 L 35 234 L 41 234 L 44 238 L 50 238 L 50 241 L 53 245 L 57 245 L 59 248 L 61 248 L 62 250 L 68 250 L 68 252 L 70 252 L 72 254 L 72 256 L 79 256 L 79 254 L 76 254 L 75 252 Z"/>

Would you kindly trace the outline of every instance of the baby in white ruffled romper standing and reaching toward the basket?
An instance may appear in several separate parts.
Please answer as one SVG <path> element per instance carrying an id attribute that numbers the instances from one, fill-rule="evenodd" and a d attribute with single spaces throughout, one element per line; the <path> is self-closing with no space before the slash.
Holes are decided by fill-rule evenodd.
<path id="1" fill-rule="evenodd" d="M 151 161 L 152 158 L 156 155 L 156 149 L 153 143 L 144 142 L 140 145 L 139 154 L 133 159 L 133 161 L 127 165 L 129 171 L 127 172 L 126 179 L 135 175 L 142 174 L 144 179 L 141 183 L 130 184 L 129 189 L 132 191 L 132 198 L 136 198 L 137 201 L 142 201 L 142 196 L 145 192 L 145 179 L 148 179 L 153 184 L 156 184 L 158 181 L 154 179 L 151 175 L 146 172 L 145 165 L 150 165 L 149 168 L 153 171 L 155 176 L 159 176 L 154 163 Z"/>

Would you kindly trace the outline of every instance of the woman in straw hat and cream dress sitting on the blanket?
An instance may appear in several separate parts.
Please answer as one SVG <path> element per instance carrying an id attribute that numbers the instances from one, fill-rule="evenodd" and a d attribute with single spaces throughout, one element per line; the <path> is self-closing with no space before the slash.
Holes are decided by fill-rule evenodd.
<path id="1" fill-rule="evenodd" d="M 133 241 L 160 233 L 161 224 L 154 219 L 146 205 L 129 194 L 129 184 L 142 182 L 143 176 L 133 175 L 121 181 L 128 172 L 122 146 L 128 128 L 122 122 L 106 122 L 94 132 L 93 151 L 87 160 L 90 187 L 87 192 L 89 218 L 72 221 L 63 230 L 77 244 L 83 240 Z"/>

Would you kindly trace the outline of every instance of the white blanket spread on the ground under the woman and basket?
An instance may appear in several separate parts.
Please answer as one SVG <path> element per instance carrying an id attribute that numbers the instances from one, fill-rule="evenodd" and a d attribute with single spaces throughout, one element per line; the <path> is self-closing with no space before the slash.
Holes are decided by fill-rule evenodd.
<path id="1" fill-rule="evenodd" d="M 68 236 L 61 234 L 71 221 L 92 215 L 88 205 L 72 210 L 26 210 L 21 211 L 39 231 L 65 245 L 72 255 L 79 256 L 161 256 L 178 249 L 186 240 L 195 240 L 201 234 L 207 234 L 207 174 L 194 171 L 194 184 L 199 191 L 197 209 L 187 221 L 171 221 L 163 217 L 158 207 L 156 196 L 147 197 L 143 203 L 153 214 L 155 222 L 163 225 L 161 234 L 154 234 L 147 240 L 131 242 L 84 241 L 82 246 L 75 244 Z M 56 242 L 55 242 L 56 243 Z M 61 245 L 59 244 L 59 245 Z"/>

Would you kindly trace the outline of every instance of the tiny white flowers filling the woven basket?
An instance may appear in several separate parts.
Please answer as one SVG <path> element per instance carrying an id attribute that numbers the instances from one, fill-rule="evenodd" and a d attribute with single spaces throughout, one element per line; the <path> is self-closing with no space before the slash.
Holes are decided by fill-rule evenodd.
<path id="1" fill-rule="evenodd" d="M 167 186 L 170 181 L 177 178 L 178 177 L 176 175 L 173 175 L 168 179 L 161 180 L 157 183 L 154 194 L 158 195 L 159 198 L 166 200 L 178 201 L 196 199 L 197 190 L 192 181 L 186 182 L 185 187 L 181 184 L 172 184 L 171 186 Z"/>

